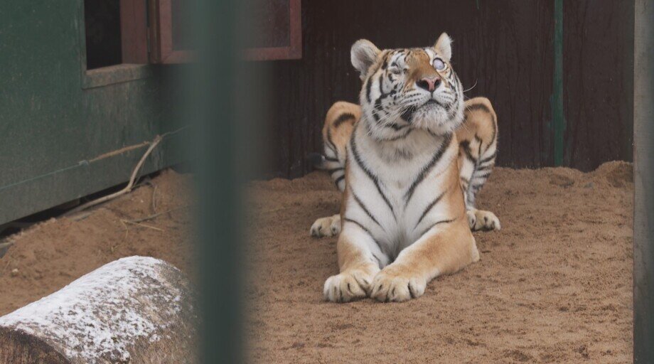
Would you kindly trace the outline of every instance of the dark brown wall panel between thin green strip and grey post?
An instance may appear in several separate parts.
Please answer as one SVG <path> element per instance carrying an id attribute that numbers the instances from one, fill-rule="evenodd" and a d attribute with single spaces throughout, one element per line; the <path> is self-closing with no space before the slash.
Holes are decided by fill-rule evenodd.
<path id="1" fill-rule="evenodd" d="M 632 159 L 633 1 L 564 1 L 564 165 Z"/>

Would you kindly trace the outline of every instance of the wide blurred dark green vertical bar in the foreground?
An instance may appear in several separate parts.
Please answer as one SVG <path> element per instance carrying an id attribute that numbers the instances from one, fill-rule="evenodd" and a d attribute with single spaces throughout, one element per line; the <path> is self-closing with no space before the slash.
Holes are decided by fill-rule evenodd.
<path id="1" fill-rule="evenodd" d="M 237 0 L 195 0 L 193 36 L 197 63 L 190 65 L 186 110 L 195 130 L 198 195 L 198 263 L 203 314 L 202 363 L 241 363 L 240 168 L 237 112 Z"/>

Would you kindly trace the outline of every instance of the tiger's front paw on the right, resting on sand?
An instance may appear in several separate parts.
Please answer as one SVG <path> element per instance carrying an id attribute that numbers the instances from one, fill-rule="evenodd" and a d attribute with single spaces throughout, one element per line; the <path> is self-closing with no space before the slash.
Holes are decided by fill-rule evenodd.
<path id="1" fill-rule="evenodd" d="M 370 297 L 381 302 L 402 302 L 424 294 L 427 281 L 422 277 L 402 274 L 396 269 L 382 269 L 372 280 Z"/>

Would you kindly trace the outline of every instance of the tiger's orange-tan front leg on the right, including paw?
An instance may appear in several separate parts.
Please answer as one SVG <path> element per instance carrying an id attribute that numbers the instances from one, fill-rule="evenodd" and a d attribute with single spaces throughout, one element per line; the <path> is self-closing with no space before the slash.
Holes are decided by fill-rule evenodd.
<path id="1" fill-rule="evenodd" d="M 479 252 L 468 223 L 460 216 L 434 225 L 377 273 L 370 297 L 377 301 L 407 301 L 424 294 L 427 283 L 441 274 L 451 274 L 477 262 Z"/>

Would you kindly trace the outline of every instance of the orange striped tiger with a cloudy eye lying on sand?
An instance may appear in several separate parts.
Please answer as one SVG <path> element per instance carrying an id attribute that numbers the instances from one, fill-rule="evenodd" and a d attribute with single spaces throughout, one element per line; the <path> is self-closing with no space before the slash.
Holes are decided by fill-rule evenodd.
<path id="1" fill-rule="evenodd" d="M 312 235 L 336 235 L 340 274 L 326 299 L 406 301 L 427 282 L 479 259 L 472 230 L 499 230 L 475 196 L 495 164 L 497 119 L 485 98 L 463 101 L 451 39 L 433 47 L 379 50 L 357 41 L 351 60 L 360 105 L 336 102 L 313 156 L 343 191 L 340 215 Z"/>

